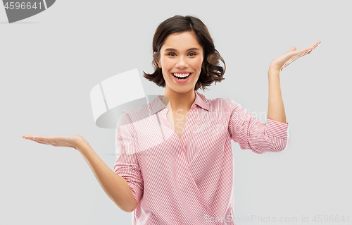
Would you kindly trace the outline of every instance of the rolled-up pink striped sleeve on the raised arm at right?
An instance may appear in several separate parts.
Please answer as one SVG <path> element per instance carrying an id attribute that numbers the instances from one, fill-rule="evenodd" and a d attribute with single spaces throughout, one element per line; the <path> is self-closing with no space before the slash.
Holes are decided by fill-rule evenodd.
<path id="1" fill-rule="evenodd" d="M 281 152 L 289 145 L 289 123 L 270 118 L 263 123 L 237 102 L 230 100 L 229 133 L 241 150 L 251 150 L 257 154 Z"/>

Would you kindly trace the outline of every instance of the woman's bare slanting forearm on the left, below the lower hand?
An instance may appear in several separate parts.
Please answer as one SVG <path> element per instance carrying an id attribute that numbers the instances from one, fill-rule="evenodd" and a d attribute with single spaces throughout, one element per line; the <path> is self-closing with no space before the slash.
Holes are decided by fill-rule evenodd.
<path id="1" fill-rule="evenodd" d="M 106 195 L 123 211 L 132 212 L 137 207 L 137 201 L 132 195 L 127 181 L 122 176 L 115 174 L 94 152 L 87 141 L 82 140 L 77 146 L 77 150 L 92 169 L 94 176 L 99 181 Z"/>

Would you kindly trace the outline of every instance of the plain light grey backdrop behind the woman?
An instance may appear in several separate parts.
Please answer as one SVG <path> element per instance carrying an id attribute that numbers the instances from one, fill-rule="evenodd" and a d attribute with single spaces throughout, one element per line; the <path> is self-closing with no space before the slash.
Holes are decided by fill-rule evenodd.
<path id="1" fill-rule="evenodd" d="M 151 41 L 166 18 L 198 16 L 225 59 L 229 97 L 266 121 L 272 59 L 317 41 L 280 75 L 291 143 L 284 152 L 234 148 L 237 224 L 275 217 L 349 216 L 351 207 L 351 12 L 349 1 L 68 1 L 14 24 L 0 7 L 0 224 L 131 224 L 81 154 L 33 135 L 82 135 L 113 169 L 115 130 L 94 125 L 89 92 L 138 68 L 146 95 L 164 89 L 152 72 Z M 128 84 L 133 85 L 133 84 Z M 265 115 L 263 115 L 265 114 Z M 253 216 L 253 217 L 252 217 Z M 298 221 L 278 222 L 279 217 Z M 247 218 L 247 220 L 246 220 Z M 256 223 L 257 222 L 257 223 Z M 348 224 L 336 220 L 318 224 Z"/>

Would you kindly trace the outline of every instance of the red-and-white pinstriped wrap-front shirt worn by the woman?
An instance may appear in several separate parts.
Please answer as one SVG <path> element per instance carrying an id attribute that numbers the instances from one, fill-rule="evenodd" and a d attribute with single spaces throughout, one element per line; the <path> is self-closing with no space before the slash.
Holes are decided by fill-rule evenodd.
<path id="1" fill-rule="evenodd" d="M 235 224 L 231 140 L 258 154 L 289 144 L 288 123 L 263 123 L 232 99 L 194 92 L 181 139 L 163 95 L 122 112 L 114 170 L 138 202 L 132 224 Z"/>

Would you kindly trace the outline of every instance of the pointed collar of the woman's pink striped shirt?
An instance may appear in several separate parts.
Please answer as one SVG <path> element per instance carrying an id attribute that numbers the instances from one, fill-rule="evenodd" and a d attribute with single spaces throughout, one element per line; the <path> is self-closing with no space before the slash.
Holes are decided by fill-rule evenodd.
<path id="1" fill-rule="evenodd" d="M 196 105 L 198 105 L 199 107 L 210 111 L 208 99 L 206 99 L 204 95 L 197 92 L 196 90 L 194 90 L 194 94 L 196 95 L 196 99 L 194 99 L 194 103 L 191 105 L 191 109 L 194 109 Z M 153 101 L 150 102 L 149 105 L 151 114 L 156 114 L 158 111 L 161 111 L 161 109 L 164 109 L 166 107 L 165 104 L 161 102 L 162 97 L 163 95 L 158 95 L 158 97 L 156 97 L 155 99 L 153 99 Z"/>

